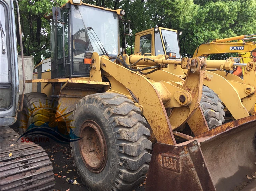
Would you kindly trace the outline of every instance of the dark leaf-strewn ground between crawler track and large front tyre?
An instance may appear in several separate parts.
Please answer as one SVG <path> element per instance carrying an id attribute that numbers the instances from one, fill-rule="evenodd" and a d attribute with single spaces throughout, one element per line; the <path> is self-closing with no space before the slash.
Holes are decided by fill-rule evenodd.
<path id="1" fill-rule="evenodd" d="M 16 124 L 11 126 L 11 128 L 19 133 L 19 129 Z M 51 142 L 50 144 L 41 146 L 48 153 L 50 160 L 52 161 L 55 178 L 54 191 L 87 191 L 86 186 L 82 184 L 81 178 L 76 173 L 69 143 L 60 144 L 57 142 Z M 79 185 L 67 183 L 67 178 L 75 179 L 78 181 Z M 144 187 L 145 182 L 133 191 L 144 191 Z"/>

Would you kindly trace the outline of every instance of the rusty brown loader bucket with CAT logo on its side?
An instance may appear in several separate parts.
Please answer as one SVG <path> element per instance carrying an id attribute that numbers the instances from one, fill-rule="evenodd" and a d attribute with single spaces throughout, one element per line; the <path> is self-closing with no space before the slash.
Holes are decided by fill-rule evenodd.
<path id="1" fill-rule="evenodd" d="M 250 178 L 256 171 L 255 116 L 247 120 L 217 135 L 177 145 L 156 143 L 146 191 L 242 189 L 249 180 L 247 175 Z"/>

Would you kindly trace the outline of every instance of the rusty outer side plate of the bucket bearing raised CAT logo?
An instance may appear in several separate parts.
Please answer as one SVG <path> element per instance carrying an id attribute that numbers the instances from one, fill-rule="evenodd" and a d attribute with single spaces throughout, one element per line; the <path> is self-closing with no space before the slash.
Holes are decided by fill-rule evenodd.
<path id="1" fill-rule="evenodd" d="M 156 143 L 146 179 L 146 191 L 215 190 L 197 141 L 176 146 Z"/>

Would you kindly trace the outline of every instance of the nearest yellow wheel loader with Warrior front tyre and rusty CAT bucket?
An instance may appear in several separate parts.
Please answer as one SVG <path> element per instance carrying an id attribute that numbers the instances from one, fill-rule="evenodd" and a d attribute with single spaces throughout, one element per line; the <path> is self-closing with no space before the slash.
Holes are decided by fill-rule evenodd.
<path id="1" fill-rule="evenodd" d="M 51 108 L 45 109 L 39 105 L 36 115 L 28 115 L 28 121 L 49 122 L 58 127 L 63 127 L 59 124 L 65 123 L 68 131 L 72 130 L 80 138 L 71 142 L 72 155 L 77 173 L 89 190 L 132 190 L 145 179 L 149 168 L 155 169 L 155 164 L 149 164 L 154 160 L 168 170 L 165 172 L 166 177 L 174 172 L 178 177 L 174 179 L 180 179 L 186 174 L 183 172 L 185 167 L 192 172 L 182 181 L 166 181 L 165 190 L 171 190 L 170 185 L 182 188 L 185 180 L 188 186 L 196 184 L 199 190 L 207 190 L 200 185 L 212 181 L 212 178 L 217 180 L 217 184 L 219 180 L 223 181 L 223 177 L 231 180 L 233 172 L 239 174 L 234 178 L 240 184 L 246 174 L 255 171 L 255 166 L 243 163 L 242 170 L 238 169 L 241 164 L 241 160 L 236 160 L 238 155 L 232 158 L 233 170 L 228 170 L 231 173 L 210 175 L 212 172 L 207 169 L 205 161 L 211 156 L 204 157 L 202 153 L 197 158 L 195 154 L 200 148 L 192 146 L 191 149 L 194 154 L 191 158 L 198 162 L 199 168 L 183 160 L 182 156 L 188 155 L 185 147 L 180 152 L 169 149 L 169 146 L 176 148 L 177 141 L 186 145 L 188 143 L 184 140 L 189 140 L 194 144 L 198 139 L 193 136 L 203 133 L 208 133 L 203 135 L 206 142 L 209 139 L 225 142 L 225 137 L 216 135 L 218 131 L 226 135 L 235 129 L 234 136 L 240 134 L 243 137 L 248 134 L 248 129 L 235 125 L 241 124 L 241 121 L 209 131 L 199 107 L 205 59 L 195 57 L 171 60 L 164 54 L 120 54 L 118 19 L 124 14 L 124 10 L 111 10 L 73 0 L 61 7 L 56 5 L 52 15 L 45 15 L 52 27 L 50 71 L 46 61 L 35 67 L 33 79 L 26 83 L 34 83 L 37 92 L 33 96 L 33 93 L 25 95 L 24 100 L 49 100 Z M 186 80 L 163 70 L 171 65 L 187 69 Z M 255 116 L 249 118 L 247 122 L 254 125 Z M 186 122 L 189 126 L 184 125 Z M 20 124 L 25 131 L 26 124 Z M 251 144 L 244 144 L 241 137 L 236 140 L 237 144 L 248 147 L 250 153 L 237 150 L 236 147 L 233 153 L 240 151 L 239 157 L 255 161 L 255 155 L 252 156 L 256 153 L 253 145 L 255 132 L 256 129 L 252 127 L 250 136 L 247 136 Z M 157 142 L 156 146 L 160 144 L 167 150 L 157 150 L 167 158 L 151 157 L 152 142 Z M 211 144 L 205 147 L 211 147 Z M 223 147 L 218 151 L 225 150 Z M 215 156 L 221 157 L 221 154 L 217 155 L 218 151 L 215 151 Z M 175 166 L 177 161 L 179 168 Z M 231 160 L 226 163 L 230 164 Z M 204 171 L 201 171 L 201 167 Z M 196 171 L 205 176 L 200 176 L 199 180 Z M 148 177 L 152 175 L 150 171 Z M 152 186 L 154 183 L 154 178 L 147 181 L 147 189 L 159 190 Z M 214 185 L 212 181 L 210 188 L 213 190 Z"/>

